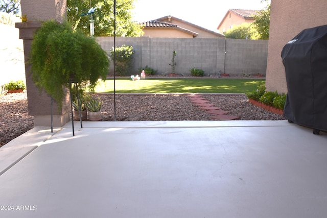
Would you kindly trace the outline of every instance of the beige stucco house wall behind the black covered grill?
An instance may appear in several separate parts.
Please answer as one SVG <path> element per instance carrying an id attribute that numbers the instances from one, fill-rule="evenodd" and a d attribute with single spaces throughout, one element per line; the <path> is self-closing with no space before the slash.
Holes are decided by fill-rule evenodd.
<path id="1" fill-rule="evenodd" d="M 326 0 L 271 0 L 267 90 L 287 92 L 285 68 L 281 58 L 282 49 L 303 29 L 327 25 L 326 11 Z"/>

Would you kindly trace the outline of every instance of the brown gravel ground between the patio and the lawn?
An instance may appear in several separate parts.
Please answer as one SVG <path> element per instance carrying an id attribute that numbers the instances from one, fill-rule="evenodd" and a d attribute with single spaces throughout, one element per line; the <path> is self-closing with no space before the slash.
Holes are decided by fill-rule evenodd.
<path id="1" fill-rule="evenodd" d="M 228 115 L 241 120 L 281 120 L 274 114 L 252 105 L 245 95 L 202 94 L 214 106 L 230 111 Z M 102 101 L 102 120 L 114 120 L 114 96 L 95 94 Z M 213 114 L 199 109 L 187 94 L 116 94 L 116 120 L 214 120 Z M 26 93 L 0 96 L 0 147 L 33 128 L 33 116 L 28 115 Z"/>

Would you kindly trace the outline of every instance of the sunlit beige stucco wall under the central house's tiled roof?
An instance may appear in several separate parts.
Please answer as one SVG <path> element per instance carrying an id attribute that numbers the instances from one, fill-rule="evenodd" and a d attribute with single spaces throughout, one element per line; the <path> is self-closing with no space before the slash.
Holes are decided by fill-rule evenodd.
<path id="1" fill-rule="evenodd" d="M 176 29 L 168 28 L 144 28 L 144 36 L 149 37 L 168 37 L 168 38 L 193 38 L 193 35 Z"/>

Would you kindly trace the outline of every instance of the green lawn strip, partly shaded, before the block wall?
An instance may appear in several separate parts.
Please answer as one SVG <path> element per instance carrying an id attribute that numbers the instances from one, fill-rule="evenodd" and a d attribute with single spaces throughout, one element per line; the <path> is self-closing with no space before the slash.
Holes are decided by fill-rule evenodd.
<path id="1" fill-rule="evenodd" d="M 100 82 L 96 92 L 113 93 L 113 79 Z M 265 79 L 184 79 L 148 78 L 132 81 L 118 78 L 116 93 L 246 93 L 254 91 L 258 85 L 265 85 Z"/>

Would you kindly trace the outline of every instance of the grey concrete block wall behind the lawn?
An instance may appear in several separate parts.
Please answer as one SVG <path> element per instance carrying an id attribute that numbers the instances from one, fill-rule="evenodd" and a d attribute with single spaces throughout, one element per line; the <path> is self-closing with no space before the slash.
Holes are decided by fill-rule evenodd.
<path id="1" fill-rule="evenodd" d="M 97 37 L 102 48 L 109 53 L 113 37 Z M 173 51 L 176 51 L 175 72 L 190 74 L 192 67 L 203 69 L 206 75 L 226 74 L 265 75 L 268 55 L 267 40 L 224 38 L 150 38 L 116 37 L 116 46 L 132 45 L 134 66 L 130 74 L 137 74 L 146 65 L 158 70 L 157 74 L 170 73 Z M 113 64 L 110 66 L 110 74 Z"/>

